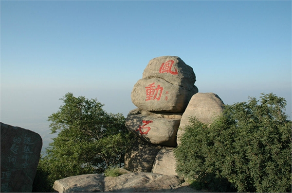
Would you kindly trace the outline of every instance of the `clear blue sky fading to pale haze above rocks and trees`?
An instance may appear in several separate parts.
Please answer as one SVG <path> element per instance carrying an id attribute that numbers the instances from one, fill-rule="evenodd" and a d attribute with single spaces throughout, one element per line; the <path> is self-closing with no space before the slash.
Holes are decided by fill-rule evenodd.
<path id="1" fill-rule="evenodd" d="M 110 113 L 149 60 L 179 56 L 225 104 L 273 92 L 291 116 L 291 1 L 1 0 L 1 122 L 49 133 L 59 98 Z"/>

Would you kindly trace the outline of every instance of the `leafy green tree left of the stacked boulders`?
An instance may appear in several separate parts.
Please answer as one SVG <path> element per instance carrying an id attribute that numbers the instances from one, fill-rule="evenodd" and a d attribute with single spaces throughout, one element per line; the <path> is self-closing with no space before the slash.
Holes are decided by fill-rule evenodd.
<path id="1" fill-rule="evenodd" d="M 64 105 L 49 116 L 52 133 L 58 136 L 46 149 L 38 172 L 47 174 L 52 187 L 57 179 L 98 173 L 108 167 L 122 166 L 133 136 L 121 114 L 106 113 L 96 99 L 74 97 L 67 93 Z"/>

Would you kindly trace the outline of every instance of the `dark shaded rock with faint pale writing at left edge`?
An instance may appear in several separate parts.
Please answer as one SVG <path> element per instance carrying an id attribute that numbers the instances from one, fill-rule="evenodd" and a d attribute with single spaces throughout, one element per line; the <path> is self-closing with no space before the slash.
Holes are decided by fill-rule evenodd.
<path id="1" fill-rule="evenodd" d="M 42 139 L 28 129 L 1 124 L 1 192 L 32 192 Z"/>

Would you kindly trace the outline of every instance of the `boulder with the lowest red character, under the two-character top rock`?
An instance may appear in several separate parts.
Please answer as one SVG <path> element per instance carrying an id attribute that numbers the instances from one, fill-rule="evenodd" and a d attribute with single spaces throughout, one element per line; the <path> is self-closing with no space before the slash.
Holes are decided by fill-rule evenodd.
<path id="1" fill-rule="evenodd" d="M 145 111 L 142 114 L 140 111 L 131 111 L 126 119 L 126 127 L 146 142 L 174 147 L 177 145 L 176 135 L 181 121 L 178 117 L 180 115 L 160 115 L 159 113 L 146 113 Z"/>

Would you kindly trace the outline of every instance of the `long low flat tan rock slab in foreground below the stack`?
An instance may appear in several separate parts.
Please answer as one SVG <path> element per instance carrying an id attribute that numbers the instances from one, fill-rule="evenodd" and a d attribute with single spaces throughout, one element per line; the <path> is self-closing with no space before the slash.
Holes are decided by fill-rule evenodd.
<path id="1" fill-rule="evenodd" d="M 128 173 L 118 177 L 88 174 L 56 180 L 53 188 L 59 193 L 169 192 L 182 183 L 181 177 L 155 173 Z"/>

